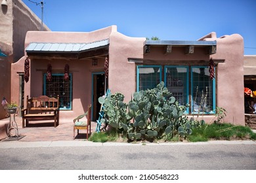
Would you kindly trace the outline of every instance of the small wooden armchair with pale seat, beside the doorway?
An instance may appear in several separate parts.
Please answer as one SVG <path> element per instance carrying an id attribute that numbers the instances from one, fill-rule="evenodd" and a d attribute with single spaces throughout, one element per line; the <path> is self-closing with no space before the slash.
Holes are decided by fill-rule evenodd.
<path id="1" fill-rule="evenodd" d="M 83 117 L 87 117 L 87 121 L 79 121 Z M 85 114 L 82 114 L 80 116 L 77 116 L 73 120 L 74 122 L 74 134 L 73 134 L 73 140 L 75 139 L 75 129 L 77 129 L 77 135 L 79 134 L 79 129 L 86 129 L 87 130 L 87 141 L 88 141 L 88 136 L 91 134 L 91 105 L 88 107 L 88 111 L 85 112 Z"/>

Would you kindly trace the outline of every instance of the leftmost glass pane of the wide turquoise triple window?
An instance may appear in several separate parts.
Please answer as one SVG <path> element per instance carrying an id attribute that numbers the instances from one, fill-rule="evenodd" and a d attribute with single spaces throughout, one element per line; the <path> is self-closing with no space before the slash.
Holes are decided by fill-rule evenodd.
<path id="1" fill-rule="evenodd" d="M 138 74 L 138 91 L 155 88 L 161 82 L 160 66 L 138 66 Z"/>

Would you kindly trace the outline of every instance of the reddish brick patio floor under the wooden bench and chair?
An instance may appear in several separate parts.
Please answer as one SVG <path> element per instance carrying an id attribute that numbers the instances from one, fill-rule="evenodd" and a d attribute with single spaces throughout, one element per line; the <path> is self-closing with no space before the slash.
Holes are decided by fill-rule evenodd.
<path id="1" fill-rule="evenodd" d="M 22 128 L 22 118 L 16 116 L 18 125 L 18 133 L 24 136 L 18 141 L 35 142 L 35 141 L 73 141 L 73 122 L 62 123 L 54 127 L 51 121 L 33 122 L 31 121 L 28 127 Z M 0 120 L 2 128 L 3 124 L 8 125 L 9 118 Z M 96 122 L 91 122 L 91 133 L 95 132 Z M 0 141 L 4 141 L 2 139 Z M 86 131 L 80 130 L 79 135 L 75 131 L 75 141 L 86 141 Z"/>

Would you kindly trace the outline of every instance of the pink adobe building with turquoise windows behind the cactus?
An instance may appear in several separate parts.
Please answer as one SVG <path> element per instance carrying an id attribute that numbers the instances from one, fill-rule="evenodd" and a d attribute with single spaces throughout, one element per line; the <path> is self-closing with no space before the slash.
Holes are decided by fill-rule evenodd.
<path id="1" fill-rule="evenodd" d="M 24 53 L 12 63 L 12 101 L 19 101 L 22 94 L 18 73 L 24 73 L 28 59 L 30 77 L 24 96 L 59 95 L 60 124 L 72 123 L 89 104 L 96 121 L 98 97 L 107 88 L 123 93 L 129 102 L 134 92 L 154 88 L 162 80 L 181 105 L 189 104 L 188 115 L 211 122 L 216 108 L 222 107 L 227 111 L 225 122 L 245 125 L 244 40 L 238 34 L 217 38 L 209 33 L 198 41 L 148 41 L 127 37 L 116 25 L 79 33 L 28 31 Z M 214 69 L 209 71 L 209 65 Z M 64 78 L 64 73 L 69 77 Z"/>

